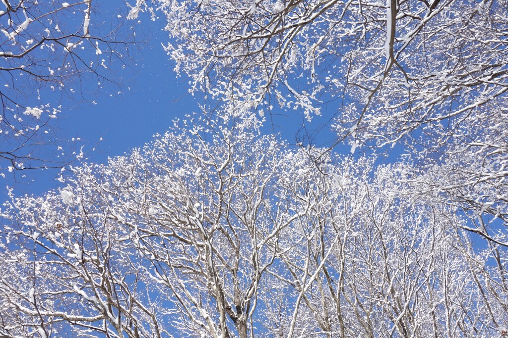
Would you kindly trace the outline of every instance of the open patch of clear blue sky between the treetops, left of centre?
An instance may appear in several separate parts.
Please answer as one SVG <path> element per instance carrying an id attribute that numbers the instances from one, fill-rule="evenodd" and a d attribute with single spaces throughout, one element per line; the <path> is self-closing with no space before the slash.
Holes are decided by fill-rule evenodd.
<path id="1" fill-rule="evenodd" d="M 109 15 L 116 15 L 116 1 L 105 3 L 104 10 Z M 146 18 L 145 18 L 146 19 Z M 55 93 L 48 98 L 53 105 L 61 104 L 58 114 L 56 133 L 64 142 L 80 139 L 76 143 L 84 145 L 83 151 L 91 162 L 104 163 L 108 157 L 122 155 L 134 147 L 149 142 L 152 135 L 164 133 L 172 124 L 173 119 L 198 109 L 192 96 L 186 95 L 184 80 L 177 79 L 172 65 L 161 43 L 167 38 L 162 30 L 163 20 L 158 22 L 141 22 L 138 26 L 150 41 L 140 44 L 134 54 L 135 63 L 119 74 L 125 79 L 120 90 L 115 94 L 111 90 L 85 94 L 84 101 L 80 98 L 71 100 Z M 94 79 L 86 78 L 87 81 Z M 27 101 L 34 97 L 27 98 Z M 95 101 L 96 104 L 92 103 Z M 101 140 L 102 138 L 102 140 Z M 55 146 L 56 147 L 56 146 Z M 95 151 L 91 151 L 95 148 Z M 75 163 L 76 164 L 76 163 Z M 4 183 L 14 186 L 16 195 L 41 194 L 57 186 L 54 178 L 60 170 L 28 170 L 18 171 L 14 177 L 3 179 Z M 25 177 L 22 177 L 25 176 Z M 1 184 L 1 183 L 0 183 Z M 5 199 L 5 184 L 1 194 Z"/>

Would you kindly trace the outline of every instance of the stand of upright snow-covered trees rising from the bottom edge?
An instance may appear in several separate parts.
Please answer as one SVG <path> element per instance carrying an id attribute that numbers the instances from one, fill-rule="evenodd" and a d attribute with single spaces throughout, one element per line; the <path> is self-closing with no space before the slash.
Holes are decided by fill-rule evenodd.
<path id="1" fill-rule="evenodd" d="M 189 119 L 4 204 L 0 335 L 500 336 L 502 246 L 403 165 L 258 127 Z"/>

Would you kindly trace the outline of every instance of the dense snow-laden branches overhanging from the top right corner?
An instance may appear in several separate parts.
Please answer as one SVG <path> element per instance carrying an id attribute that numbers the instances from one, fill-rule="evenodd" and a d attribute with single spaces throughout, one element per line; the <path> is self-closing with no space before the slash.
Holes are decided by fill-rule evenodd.
<path id="1" fill-rule="evenodd" d="M 487 238 L 499 231 L 493 217 L 506 223 L 505 0 L 157 3 L 191 90 L 260 112 L 278 103 L 308 119 L 326 104 L 336 144 L 402 147 L 406 178 L 424 189 L 416 194 L 462 209 Z"/>

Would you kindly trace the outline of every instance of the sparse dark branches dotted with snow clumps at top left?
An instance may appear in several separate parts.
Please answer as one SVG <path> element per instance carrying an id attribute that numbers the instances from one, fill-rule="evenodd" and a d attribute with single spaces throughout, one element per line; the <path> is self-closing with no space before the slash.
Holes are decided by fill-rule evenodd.
<path id="1" fill-rule="evenodd" d="M 52 122 L 61 97 L 92 102 L 87 93 L 121 81 L 134 36 L 120 12 L 100 9 L 96 0 L 0 3 L 0 168 L 61 165 Z"/>

